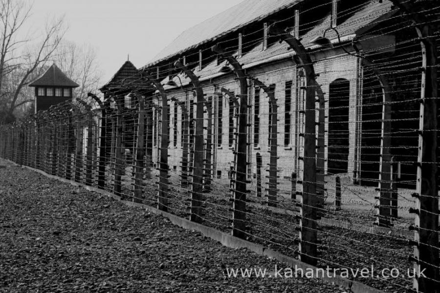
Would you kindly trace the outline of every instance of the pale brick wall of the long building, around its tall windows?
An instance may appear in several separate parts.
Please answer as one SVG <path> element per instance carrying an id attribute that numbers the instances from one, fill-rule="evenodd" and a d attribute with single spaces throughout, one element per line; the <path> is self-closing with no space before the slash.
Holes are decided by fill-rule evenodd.
<path id="1" fill-rule="evenodd" d="M 329 85 L 332 81 L 336 79 L 346 79 L 350 82 L 350 102 L 349 102 L 349 164 L 348 164 L 348 174 L 351 176 L 353 170 L 355 170 L 356 163 L 356 127 L 359 124 L 355 123 L 357 115 L 359 115 L 357 109 L 358 91 L 359 85 L 357 81 L 357 71 L 358 63 L 356 58 L 352 56 L 336 56 L 330 57 L 325 60 L 320 60 L 314 64 L 315 72 L 319 74 L 317 82 L 321 84 L 322 90 L 325 93 L 325 98 L 328 100 L 329 97 Z M 248 74 L 252 77 L 258 78 L 265 85 L 269 86 L 271 84 L 275 85 L 275 98 L 277 99 L 278 105 L 278 169 L 280 170 L 279 180 L 287 180 L 292 172 L 299 172 L 299 164 L 297 157 L 302 153 L 302 137 L 299 133 L 303 132 L 303 115 L 298 111 L 303 109 L 304 105 L 304 90 L 300 87 L 304 83 L 304 78 L 298 77 L 299 66 L 296 66 L 292 61 L 283 61 L 273 64 L 266 64 L 264 66 L 259 66 L 258 68 L 252 68 L 248 70 Z M 226 77 L 218 78 L 211 81 L 212 83 L 203 82 L 203 91 L 205 98 L 212 97 L 212 111 L 213 111 L 213 139 L 212 139 L 212 152 L 213 152 L 213 174 L 217 175 L 221 172 L 221 178 L 227 178 L 227 172 L 232 166 L 234 160 L 233 147 L 229 146 L 229 98 L 227 94 L 221 95 L 221 127 L 219 127 L 219 117 L 218 117 L 218 102 L 220 89 L 225 88 L 228 91 L 237 94 L 239 92 L 238 81 L 235 80 L 235 75 L 230 74 Z M 291 82 L 291 126 L 288 129 L 290 135 L 290 143 L 285 146 L 285 119 L 286 119 L 286 82 Z M 259 131 L 259 143 L 258 146 L 254 146 L 255 138 L 255 87 L 253 82 L 249 82 L 249 117 L 248 122 L 250 127 L 248 127 L 248 138 L 250 147 L 248 148 L 248 161 L 250 162 L 249 170 L 252 177 L 256 173 L 256 154 L 260 153 L 263 159 L 262 175 L 263 178 L 267 175 L 267 164 L 269 163 L 269 100 L 267 95 L 263 90 L 260 90 L 260 131 Z M 168 93 L 168 98 L 171 100 L 172 97 L 179 101 L 187 101 L 187 108 L 190 108 L 188 100 L 195 100 L 193 94 L 189 92 L 188 94 L 182 93 L 181 89 L 172 90 Z M 157 101 L 155 102 L 158 103 Z M 174 102 L 169 102 L 170 108 L 170 144 L 169 148 L 169 166 L 173 170 L 181 170 L 182 161 L 182 144 L 181 144 L 181 131 L 182 131 L 182 121 L 181 121 L 181 108 L 175 108 Z M 177 110 L 177 129 L 174 129 L 174 111 Z M 195 117 L 196 106 L 193 107 Z M 157 110 L 156 110 L 157 113 Z M 326 116 L 329 115 L 328 103 L 326 104 Z M 204 126 L 207 126 L 207 114 L 205 113 Z M 157 120 L 157 119 L 156 119 Z M 235 118 L 233 119 L 235 121 Z M 234 122 L 235 126 L 235 122 Z M 154 129 L 154 137 L 158 138 L 156 133 L 157 127 Z M 326 118 L 326 130 L 328 130 L 328 118 Z M 174 132 L 177 133 L 177 142 L 174 146 Z M 235 130 L 234 130 L 235 131 Z M 222 143 L 220 146 L 217 145 L 217 138 L 219 133 L 221 133 Z M 204 137 L 206 139 L 207 130 L 204 130 Z M 328 144 L 328 137 L 326 135 L 326 145 Z M 157 146 L 155 144 L 153 150 L 154 162 L 157 163 Z M 326 157 L 328 155 L 328 149 L 326 149 Z M 191 157 L 190 157 L 191 158 Z M 327 167 L 327 164 L 326 164 Z M 263 180 L 264 181 L 264 180 Z"/>

